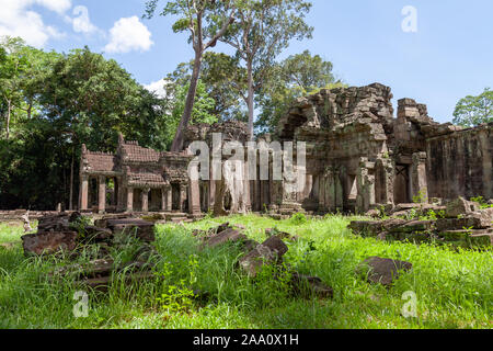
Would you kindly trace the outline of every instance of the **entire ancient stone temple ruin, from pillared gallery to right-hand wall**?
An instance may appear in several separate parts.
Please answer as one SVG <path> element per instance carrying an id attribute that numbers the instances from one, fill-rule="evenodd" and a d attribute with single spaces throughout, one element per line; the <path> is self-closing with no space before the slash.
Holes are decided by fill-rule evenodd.
<path id="1" fill-rule="evenodd" d="M 411 99 L 399 100 L 395 118 L 391 99 L 390 88 L 374 83 L 321 90 L 297 100 L 276 133 L 263 139 L 306 143 L 306 162 L 294 165 L 297 174 L 306 174 L 302 190 L 274 180 L 272 167 L 264 180 L 259 159 L 255 180 L 231 179 L 228 156 L 222 154 L 221 180 L 192 181 L 187 169 L 194 155 L 188 151 L 159 152 L 123 137 L 115 154 L 83 147 L 80 210 L 365 213 L 459 195 L 493 199 L 493 124 L 469 129 L 438 124 L 427 115 L 426 105 Z M 222 145 L 248 140 L 244 124 L 227 122 L 191 126 L 186 146 L 202 140 L 213 147 L 215 133 L 221 133 Z M 214 152 L 211 148 L 211 159 Z M 275 157 L 270 152 L 271 166 Z M 252 172 L 248 165 L 245 159 L 244 174 Z"/>

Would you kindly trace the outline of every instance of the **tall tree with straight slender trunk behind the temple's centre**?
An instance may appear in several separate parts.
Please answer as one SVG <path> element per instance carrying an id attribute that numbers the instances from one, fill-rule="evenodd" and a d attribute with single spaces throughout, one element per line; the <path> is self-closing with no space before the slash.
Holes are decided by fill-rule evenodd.
<path id="1" fill-rule="evenodd" d="M 243 0 L 238 7 L 238 21 L 219 38 L 236 49 L 246 75 L 239 82 L 246 86 L 250 138 L 254 136 L 255 94 L 289 42 L 311 37 L 313 29 L 305 22 L 310 8 L 311 3 L 303 0 Z M 243 89 L 242 84 L 238 88 Z"/>

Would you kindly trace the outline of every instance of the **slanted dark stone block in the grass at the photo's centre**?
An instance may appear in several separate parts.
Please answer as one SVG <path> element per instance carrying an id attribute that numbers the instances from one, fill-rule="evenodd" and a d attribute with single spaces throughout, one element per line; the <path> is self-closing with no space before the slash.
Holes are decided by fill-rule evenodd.
<path id="1" fill-rule="evenodd" d="M 256 276 L 263 265 L 278 262 L 287 251 L 286 244 L 273 236 L 241 258 L 239 263 L 250 276 Z"/>

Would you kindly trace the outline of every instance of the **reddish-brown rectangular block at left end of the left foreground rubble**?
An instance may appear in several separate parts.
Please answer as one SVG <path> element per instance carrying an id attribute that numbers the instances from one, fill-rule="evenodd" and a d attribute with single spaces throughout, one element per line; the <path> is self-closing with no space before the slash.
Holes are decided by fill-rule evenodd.
<path id="1" fill-rule="evenodd" d="M 73 251 L 77 248 L 76 231 L 48 231 L 28 234 L 23 237 L 25 254 L 51 254 L 58 251 Z"/>

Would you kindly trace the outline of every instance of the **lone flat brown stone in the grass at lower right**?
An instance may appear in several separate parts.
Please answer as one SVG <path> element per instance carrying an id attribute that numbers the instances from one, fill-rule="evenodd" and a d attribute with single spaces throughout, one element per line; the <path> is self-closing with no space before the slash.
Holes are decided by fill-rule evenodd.
<path id="1" fill-rule="evenodd" d="M 410 271 L 412 268 L 410 262 L 370 257 L 363 261 L 356 271 L 365 273 L 370 283 L 390 286 L 399 279 L 400 271 Z"/>

